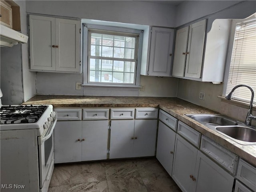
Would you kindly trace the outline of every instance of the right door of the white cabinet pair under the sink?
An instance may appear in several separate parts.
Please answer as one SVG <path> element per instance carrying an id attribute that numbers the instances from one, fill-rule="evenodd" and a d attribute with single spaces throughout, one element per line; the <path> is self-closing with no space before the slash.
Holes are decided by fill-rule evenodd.
<path id="1" fill-rule="evenodd" d="M 196 191 L 232 191 L 234 177 L 198 151 L 196 160 Z"/>

